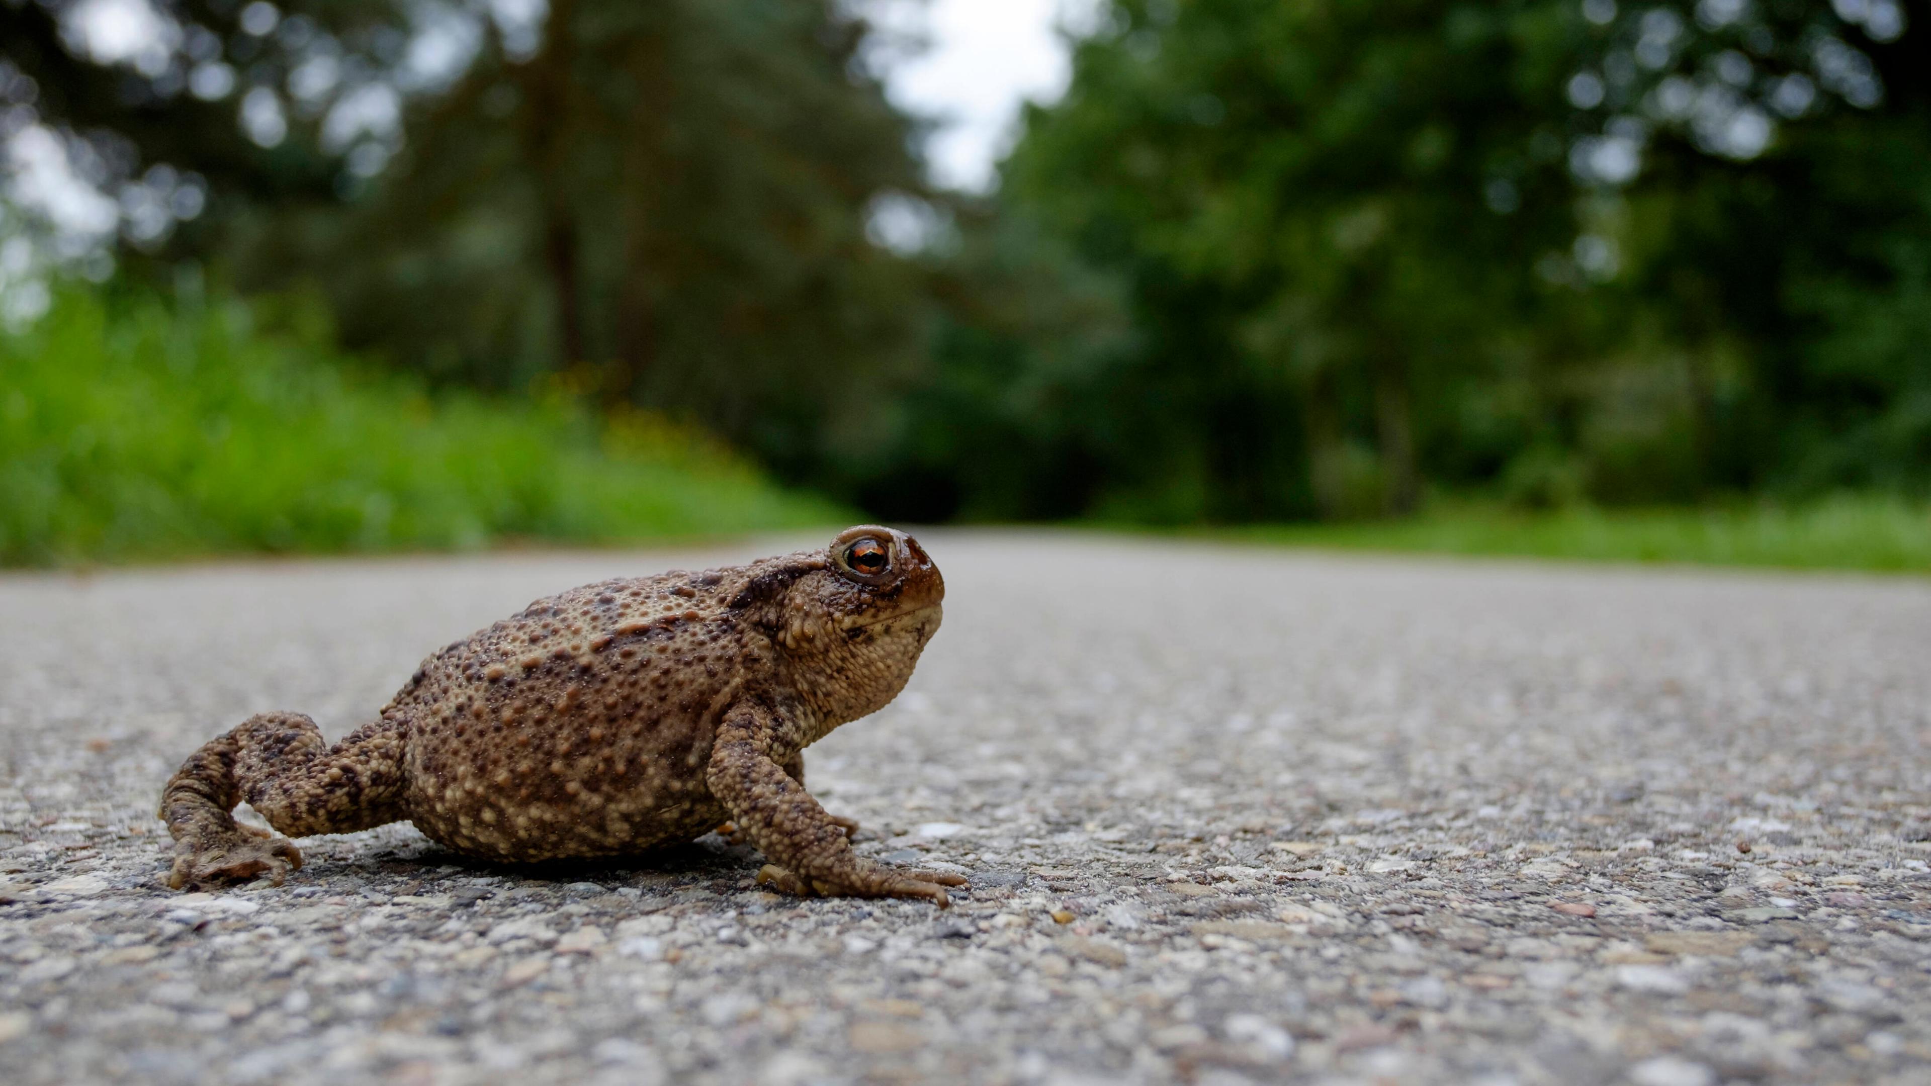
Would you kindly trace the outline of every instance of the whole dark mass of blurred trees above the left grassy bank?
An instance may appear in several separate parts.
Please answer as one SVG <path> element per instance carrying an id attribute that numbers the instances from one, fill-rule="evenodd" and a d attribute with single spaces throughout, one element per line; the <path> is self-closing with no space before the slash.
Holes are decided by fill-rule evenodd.
<path id="1" fill-rule="evenodd" d="M 207 211 L 133 242 L 315 288 L 350 348 L 560 375 L 792 477 L 913 359 L 917 276 L 867 226 L 921 195 L 915 128 L 834 0 L 153 10 L 147 46 L 97 48 L 77 2 L 6 4 L 0 54 L 46 122 L 116 149 L 97 184 L 197 172 Z"/>

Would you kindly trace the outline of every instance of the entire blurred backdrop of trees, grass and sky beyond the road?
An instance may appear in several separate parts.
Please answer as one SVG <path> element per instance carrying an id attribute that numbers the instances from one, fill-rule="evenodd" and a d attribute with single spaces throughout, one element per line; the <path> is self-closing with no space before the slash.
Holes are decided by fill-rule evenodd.
<path id="1" fill-rule="evenodd" d="M 0 562 L 1931 568 L 1931 4 L 0 0 Z"/>

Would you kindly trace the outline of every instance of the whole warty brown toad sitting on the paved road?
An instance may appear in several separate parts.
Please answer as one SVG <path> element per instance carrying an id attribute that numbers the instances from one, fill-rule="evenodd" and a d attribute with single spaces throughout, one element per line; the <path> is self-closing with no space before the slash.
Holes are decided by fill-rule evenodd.
<path id="1" fill-rule="evenodd" d="M 280 837 L 413 821 L 483 860 L 628 856 L 724 821 L 792 893 L 919 897 L 966 879 L 854 854 L 805 790 L 803 750 L 881 709 L 938 630 L 944 578 L 890 528 L 745 566 L 608 580 L 539 599 L 423 661 L 336 746 L 261 713 L 168 781 L 168 885 L 301 868 Z"/>

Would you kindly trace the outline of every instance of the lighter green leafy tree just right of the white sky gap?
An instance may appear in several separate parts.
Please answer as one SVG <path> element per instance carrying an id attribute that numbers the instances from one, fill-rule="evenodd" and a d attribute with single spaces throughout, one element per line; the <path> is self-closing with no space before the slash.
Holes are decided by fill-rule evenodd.
<path id="1" fill-rule="evenodd" d="M 1522 271 L 1574 236 L 1560 87 L 1583 48 L 1551 4 L 1110 6 L 1000 193 L 1126 282 L 1139 357 L 1110 381 L 1162 419 L 1101 454 L 1097 500 L 1415 508 L 1423 458 L 1469 454 L 1458 400 L 1560 321 Z"/>

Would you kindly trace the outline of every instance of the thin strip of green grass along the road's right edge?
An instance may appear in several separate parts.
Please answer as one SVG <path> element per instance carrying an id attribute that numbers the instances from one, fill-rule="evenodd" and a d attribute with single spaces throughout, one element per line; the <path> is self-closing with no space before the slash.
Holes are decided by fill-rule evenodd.
<path id="1" fill-rule="evenodd" d="M 1931 572 L 1931 506 L 1883 495 L 1688 510 L 1531 514 L 1444 506 L 1413 520 L 1230 528 L 1215 535 L 1348 551 Z"/>

